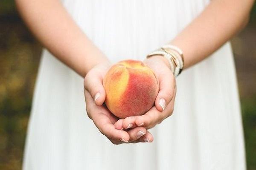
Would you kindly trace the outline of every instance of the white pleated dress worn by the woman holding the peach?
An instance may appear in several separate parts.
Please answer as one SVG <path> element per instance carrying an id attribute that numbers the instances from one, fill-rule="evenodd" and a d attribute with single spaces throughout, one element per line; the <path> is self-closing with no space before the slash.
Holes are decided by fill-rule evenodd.
<path id="1" fill-rule="evenodd" d="M 112 62 L 143 60 L 172 40 L 208 3 L 63 0 L 76 23 Z M 114 145 L 85 112 L 83 79 L 44 50 L 23 170 L 245 169 L 230 43 L 177 78 L 175 111 L 150 130 L 152 143 Z"/>

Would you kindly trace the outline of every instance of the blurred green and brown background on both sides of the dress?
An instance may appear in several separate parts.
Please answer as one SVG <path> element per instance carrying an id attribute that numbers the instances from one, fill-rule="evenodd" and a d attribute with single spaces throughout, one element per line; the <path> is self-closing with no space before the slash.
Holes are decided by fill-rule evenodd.
<path id="1" fill-rule="evenodd" d="M 232 39 L 241 98 L 247 169 L 256 170 L 256 5 Z M 20 170 L 41 45 L 12 0 L 0 0 L 0 170 Z"/>

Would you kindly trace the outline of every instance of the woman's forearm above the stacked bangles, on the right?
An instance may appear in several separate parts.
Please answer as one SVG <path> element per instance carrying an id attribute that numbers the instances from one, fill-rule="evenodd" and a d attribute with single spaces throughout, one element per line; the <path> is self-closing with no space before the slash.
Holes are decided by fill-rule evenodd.
<path id="1" fill-rule="evenodd" d="M 247 23 L 253 1 L 212 0 L 171 42 L 183 50 L 184 68 L 203 60 L 241 30 Z"/>

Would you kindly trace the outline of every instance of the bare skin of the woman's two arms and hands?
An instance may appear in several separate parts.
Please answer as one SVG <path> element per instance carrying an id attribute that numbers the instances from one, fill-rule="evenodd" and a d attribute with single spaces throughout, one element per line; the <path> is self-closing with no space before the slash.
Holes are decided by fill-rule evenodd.
<path id="1" fill-rule="evenodd" d="M 170 40 L 170 44 L 183 50 L 184 69 L 212 54 L 244 28 L 253 2 L 254 0 L 211 0 L 195 20 L 177 34 L 175 39 Z M 102 79 L 111 64 L 76 25 L 61 2 L 58 0 L 16 0 L 16 4 L 23 20 L 35 37 L 56 58 L 85 77 L 87 114 L 93 119 L 101 133 L 114 144 L 152 142 L 153 136 L 147 129 L 169 117 L 174 106 L 176 83 L 175 77 L 169 70 L 168 61 L 162 56 L 144 60 L 155 71 L 160 82 L 160 91 L 157 94 L 155 106 L 143 116 L 118 120 L 108 114 L 109 111 L 102 106 L 105 100 Z M 130 130 L 120 130 L 127 127 Z M 138 136 L 140 131 L 145 135 Z"/>

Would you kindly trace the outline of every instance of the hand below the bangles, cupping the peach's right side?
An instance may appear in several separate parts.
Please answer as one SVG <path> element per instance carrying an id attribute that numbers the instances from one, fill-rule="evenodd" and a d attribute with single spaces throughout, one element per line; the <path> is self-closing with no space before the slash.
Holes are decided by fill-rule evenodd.
<path id="1" fill-rule="evenodd" d="M 152 56 L 144 60 L 158 77 L 160 90 L 155 105 L 142 116 L 131 116 L 115 123 L 116 129 L 143 126 L 150 129 L 172 115 L 176 95 L 176 81 L 169 68 L 169 62 L 163 56 Z"/>

